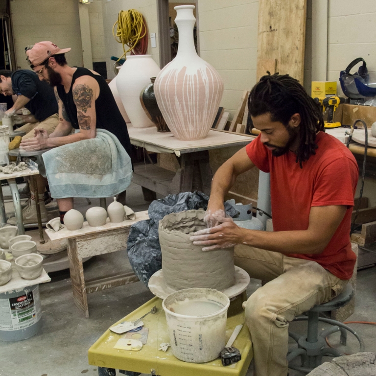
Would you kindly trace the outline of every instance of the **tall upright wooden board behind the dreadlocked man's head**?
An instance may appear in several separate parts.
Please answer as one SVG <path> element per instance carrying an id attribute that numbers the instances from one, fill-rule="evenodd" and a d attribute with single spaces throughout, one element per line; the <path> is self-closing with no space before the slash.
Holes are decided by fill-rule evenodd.
<path id="1" fill-rule="evenodd" d="M 305 17 L 306 0 L 259 0 L 257 80 L 277 60 L 280 74 L 288 73 L 303 84 Z"/>

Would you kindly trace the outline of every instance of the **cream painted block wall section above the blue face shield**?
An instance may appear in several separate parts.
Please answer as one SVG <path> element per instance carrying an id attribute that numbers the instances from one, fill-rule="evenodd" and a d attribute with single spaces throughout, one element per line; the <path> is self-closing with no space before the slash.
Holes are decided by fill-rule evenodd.
<path id="1" fill-rule="evenodd" d="M 376 1 L 329 0 L 328 80 L 337 81 L 339 72 L 357 57 L 376 75 Z"/>

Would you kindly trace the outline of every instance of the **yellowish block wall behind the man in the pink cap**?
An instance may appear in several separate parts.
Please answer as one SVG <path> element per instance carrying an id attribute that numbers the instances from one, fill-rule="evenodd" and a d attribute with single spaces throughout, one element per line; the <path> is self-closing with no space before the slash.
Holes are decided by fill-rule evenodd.
<path id="1" fill-rule="evenodd" d="M 10 11 L 20 69 L 29 69 L 25 47 L 41 41 L 71 47 L 68 63 L 82 66 L 78 0 L 11 0 Z"/>

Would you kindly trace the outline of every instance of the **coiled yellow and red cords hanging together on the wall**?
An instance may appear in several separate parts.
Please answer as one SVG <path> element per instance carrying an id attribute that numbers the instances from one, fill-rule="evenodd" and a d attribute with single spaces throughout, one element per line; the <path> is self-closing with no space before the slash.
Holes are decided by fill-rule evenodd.
<path id="1" fill-rule="evenodd" d="M 136 9 L 120 11 L 118 21 L 112 28 L 112 34 L 117 42 L 123 46 L 124 53 L 119 57 L 118 61 L 122 57 L 126 58 L 125 55 L 129 51 L 131 51 L 132 55 L 146 54 L 148 44 L 147 26 L 142 14 Z M 125 49 L 125 45 L 129 48 Z"/>

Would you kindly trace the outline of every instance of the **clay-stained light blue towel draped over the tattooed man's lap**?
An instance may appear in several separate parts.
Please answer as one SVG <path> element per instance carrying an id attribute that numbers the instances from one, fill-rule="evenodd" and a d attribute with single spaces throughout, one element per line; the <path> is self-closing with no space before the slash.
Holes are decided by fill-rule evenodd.
<path id="1" fill-rule="evenodd" d="M 42 154 L 53 198 L 114 196 L 132 180 L 132 163 L 118 138 L 104 129 L 94 139 Z"/>

